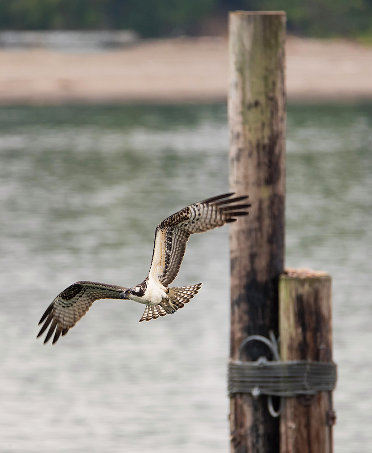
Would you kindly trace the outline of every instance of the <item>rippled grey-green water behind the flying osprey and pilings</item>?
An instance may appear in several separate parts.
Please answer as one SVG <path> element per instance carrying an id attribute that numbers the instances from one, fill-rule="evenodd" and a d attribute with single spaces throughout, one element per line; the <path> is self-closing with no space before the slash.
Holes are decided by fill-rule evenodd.
<path id="1" fill-rule="evenodd" d="M 228 451 L 228 228 L 193 236 L 175 316 L 97 301 L 36 340 L 77 280 L 144 278 L 154 229 L 228 189 L 225 106 L 0 109 L 0 451 Z M 372 450 L 372 106 L 288 111 L 286 265 L 333 276 L 335 451 Z"/>

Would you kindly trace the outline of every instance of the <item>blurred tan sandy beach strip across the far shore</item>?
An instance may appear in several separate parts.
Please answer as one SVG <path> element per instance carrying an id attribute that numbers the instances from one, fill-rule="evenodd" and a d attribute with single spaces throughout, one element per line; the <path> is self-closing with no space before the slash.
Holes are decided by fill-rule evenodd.
<path id="1" fill-rule="evenodd" d="M 227 40 L 139 41 L 90 53 L 0 50 L 0 104 L 218 102 L 227 98 Z M 372 99 L 372 47 L 288 37 L 291 101 Z"/>

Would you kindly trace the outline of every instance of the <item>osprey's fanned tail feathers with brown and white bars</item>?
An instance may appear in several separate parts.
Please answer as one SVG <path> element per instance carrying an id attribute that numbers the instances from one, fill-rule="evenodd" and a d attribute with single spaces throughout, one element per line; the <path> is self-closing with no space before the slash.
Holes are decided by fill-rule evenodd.
<path id="1" fill-rule="evenodd" d="M 191 286 L 178 286 L 175 288 L 169 288 L 168 301 L 161 302 L 158 305 L 147 305 L 140 319 L 142 321 L 150 321 L 151 319 L 157 319 L 159 316 L 165 316 L 167 313 L 173 314 L 178 309 L 184 307 L 195 294 L 198 294 L 202 283 Z"/>

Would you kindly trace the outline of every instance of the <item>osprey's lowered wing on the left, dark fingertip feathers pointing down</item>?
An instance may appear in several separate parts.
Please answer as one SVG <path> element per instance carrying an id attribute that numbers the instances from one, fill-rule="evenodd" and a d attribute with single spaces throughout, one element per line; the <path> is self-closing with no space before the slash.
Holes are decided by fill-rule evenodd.
<path id="1" fill-rule="evenodd" d="M 44 343 L 49 341 L 55 330 L 53 344 L 58 340 L 59 335 L 66 335 L 69 329 L 83 318 L 93 302 L 97 299 L 118 299 L 122 291 L 127 288 L 122 286 L 107 285 L 95 281 L 78 281 L 66 288 L 52 301 L 41 317 L 39 324 L 44 325 L 38 333 L 42 335 L 51 323 L 46 334 Z"/>

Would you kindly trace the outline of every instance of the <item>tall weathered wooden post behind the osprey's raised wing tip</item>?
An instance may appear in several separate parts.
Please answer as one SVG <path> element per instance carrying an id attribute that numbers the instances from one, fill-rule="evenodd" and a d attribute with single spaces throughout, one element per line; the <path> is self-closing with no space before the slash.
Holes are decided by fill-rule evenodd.
<path id="1" fill-rule="evenodd" d="M 230 357 L 243 339 L 278 336 L 278 282 L 284 271 L 285 43 L 284 12 L 229 15 L 230 188 L 248 193 L 252 209 L 230 229 Z M 254 342 L 245 358 L 267 348 Z M 266 398 L 230 399 L 231 452 L 278 453 L 279 420 Z"/>

